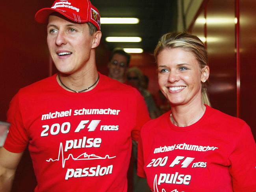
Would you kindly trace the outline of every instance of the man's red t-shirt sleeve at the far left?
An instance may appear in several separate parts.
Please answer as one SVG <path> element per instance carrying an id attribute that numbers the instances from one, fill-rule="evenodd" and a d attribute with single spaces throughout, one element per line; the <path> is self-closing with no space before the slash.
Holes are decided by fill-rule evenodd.
<path id="1" fill-rule="evenodd" d="M 7 122 L 11 125 L 4 148 L 13 153 L 20 153 L 25 150 L 28 144 L 28 136 L 22 120 L 19 93 L 17 93 L 10 102 L 10 107 L 7 112 Z"/>

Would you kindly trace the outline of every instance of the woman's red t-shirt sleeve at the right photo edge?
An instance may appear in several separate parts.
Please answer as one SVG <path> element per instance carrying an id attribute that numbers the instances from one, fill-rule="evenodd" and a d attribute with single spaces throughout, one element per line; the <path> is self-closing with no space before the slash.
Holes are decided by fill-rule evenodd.
<path id="1" fill-rule="evenodd" d="M 247 124 L 241 130 L 229 160 L 234 192 L 256 191 L 256 144 Z"/>

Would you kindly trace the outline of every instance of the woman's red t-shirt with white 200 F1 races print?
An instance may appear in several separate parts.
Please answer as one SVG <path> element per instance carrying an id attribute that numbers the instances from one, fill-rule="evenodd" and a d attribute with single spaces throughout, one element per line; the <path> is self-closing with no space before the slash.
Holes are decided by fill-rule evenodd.
<path id="1" fill-rule="evenodd" d="M 141 130 L 138 175 L 155 192 L 253 192 L 256 144 L 243 120 L 209 106 L 187 127 L 174 126 L 169 111 Z"/>

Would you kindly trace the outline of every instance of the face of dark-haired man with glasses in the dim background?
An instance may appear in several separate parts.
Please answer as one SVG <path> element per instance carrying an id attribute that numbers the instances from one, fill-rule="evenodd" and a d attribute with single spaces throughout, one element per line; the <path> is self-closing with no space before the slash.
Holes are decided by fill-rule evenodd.
<path id="1" fill-rule="evenodd" d="M 114 54 L 111 61 L 108 63 L 109 77 L 113 79 L 124 78 L 127 65 L 126 56 L 121 54 Z"/>

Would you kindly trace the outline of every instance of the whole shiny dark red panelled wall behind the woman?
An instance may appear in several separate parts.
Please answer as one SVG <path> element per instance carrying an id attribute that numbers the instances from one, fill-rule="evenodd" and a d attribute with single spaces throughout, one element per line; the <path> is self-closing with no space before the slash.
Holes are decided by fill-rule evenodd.
<path id="1" fill-rule="evenodd" d="M 256 137 L 255 1 L 204 0 L 189 28 L 206 37 L 210 65 L 209 94 L 214 108 L 242 118 Z M 205 18 L 206 24 L 197 19 Z M 234 19 L 238 18 L 237 24 Z M 217 22 L 214 22 L 216 21 Z"/>

